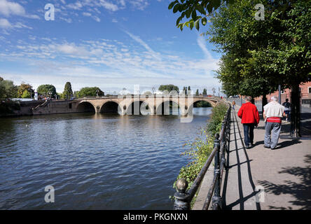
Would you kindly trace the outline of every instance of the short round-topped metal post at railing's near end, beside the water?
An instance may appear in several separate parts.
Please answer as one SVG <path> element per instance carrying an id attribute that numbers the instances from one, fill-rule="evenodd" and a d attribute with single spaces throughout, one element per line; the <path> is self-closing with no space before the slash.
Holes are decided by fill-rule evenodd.
<path id="1" fill-rule="evenodd" d="M 176 182 L 177 193 L 174 194 L 174 210 L 189 210 L 189 195 L 186 193 L 188 182 L 186 179 L 178 179 Z"/>

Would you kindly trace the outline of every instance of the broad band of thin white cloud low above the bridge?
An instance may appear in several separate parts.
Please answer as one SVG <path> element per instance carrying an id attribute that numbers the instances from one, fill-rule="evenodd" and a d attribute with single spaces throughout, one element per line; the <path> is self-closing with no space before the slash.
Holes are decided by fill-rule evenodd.
<path id="1" fill-rule="evenodd" d="M 20 41 L 16 44 L 20 47 L 14 45 L 8 52 L 0 52 L 0 58 L 23 62 L 25 71 L 32 69 L 32 76 L 44 73 L 48 78 L 54 77 L 51 78 L 53 85 L 62 83 L 62 87 L 65 80 L 72 80 L 76 87 L 97 83 L 114 88 L 165 83 L 191 87 L 198 83 L 205 87 L 218 85 L 212 77 L 212 70 L 218 68 L 219 59 L 209 54 L 204 40 L 198 39 L 198 45 L 205 57 L 193 60 L 178 52 L 153 50 L 139 36 L 128 31 L 125 33 L 132 38 L 130 42 L 106 39 L 78 43 L 48 39 L 42 42 L 42 38 L 32 36 L 28 39 L 30 43 Z M 132 44 L 133 41 L 139 44 Z M 1 69 L 0 72 L 4 73 Z M 105 89 L 104 86 L 99 87 Z"/>

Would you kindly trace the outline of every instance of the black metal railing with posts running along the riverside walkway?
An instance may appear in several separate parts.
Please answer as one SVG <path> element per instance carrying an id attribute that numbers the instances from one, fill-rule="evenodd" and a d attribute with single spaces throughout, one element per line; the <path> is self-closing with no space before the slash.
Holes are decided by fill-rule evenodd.
<path id="1" fill-rule="evenodd" d="M 191 201 L 195 193 L 197 192 L 202 179 L 209 169 L 209 165 L 211 165 L 212 160 L 214 159 L 214 179 L 209 188 L 209 192 L 205 203 L 203 205 L 202 210 L 209 209 L 209 204 L 212 200 L 212 209 L 220 210 L 222 209 L 222 198 L 220 195 L 221 192 L 221 179 L 223 176 L 223 168 L 225 167 L 225 153 L 228 153 L 229 143 L 230 143 L 230 120 L 231 120 L 231 105 L 229 105 L 229 109 L 226 112 L 226 116 L 223 118 L 223 123 L 221 125 L 220 134 L 215 135 L 214 140 L 214 149 L 212 153 L 209 155 L 209 158 L 205 162 L 205 165 L 202 167 L 200 173 L 197 178 L 193 182 L 191 188 L 187 191 L 188 182 L 186 179 L 177 180 L 177 193 L 174 194 L 174 210 L 189 210 L 191 209 Z M 214 195 L 214 196 L 213 196 Z"/>

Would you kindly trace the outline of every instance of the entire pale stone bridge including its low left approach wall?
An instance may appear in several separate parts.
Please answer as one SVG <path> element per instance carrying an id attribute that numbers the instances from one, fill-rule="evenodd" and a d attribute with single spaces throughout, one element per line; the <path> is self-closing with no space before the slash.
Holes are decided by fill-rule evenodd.
<path id="1" fill-rule="evenodd" d="M 215 106 L 219 97 L 192 96 L 116 96 L 94 97 L 74 100 L 52 100 L 39 104 L 32 109 L 32 114 L 52 113 L 119 113 L 120 115 L 191 115 L 197 102 L 208 102 Z"/>

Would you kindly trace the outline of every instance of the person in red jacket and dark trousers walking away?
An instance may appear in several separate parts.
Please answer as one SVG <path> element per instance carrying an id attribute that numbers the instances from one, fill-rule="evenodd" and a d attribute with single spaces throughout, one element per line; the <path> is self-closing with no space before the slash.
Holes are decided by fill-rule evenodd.
<path id="1" fill-rule="evenodd" d="M 245 104 L 242 104 L 237 116 L 242 118 L 244 127 L 244 143 L 246 148 L 254 145 L 254 127 L 258 126 L 260 117 L 257 107 L 251 104 L 251 97 L 247 97 Z"/>

